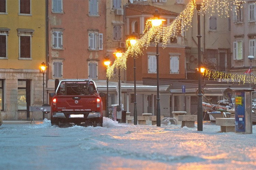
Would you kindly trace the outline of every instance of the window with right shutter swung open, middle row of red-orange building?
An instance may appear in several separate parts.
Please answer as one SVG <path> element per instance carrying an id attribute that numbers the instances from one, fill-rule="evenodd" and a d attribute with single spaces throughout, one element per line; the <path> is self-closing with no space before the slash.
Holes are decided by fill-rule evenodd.
<path id="1" fill-rule="evenodd" d="M 103 34 L 98 32 L 89 33 L 89 49 L 103 50 Z"/>

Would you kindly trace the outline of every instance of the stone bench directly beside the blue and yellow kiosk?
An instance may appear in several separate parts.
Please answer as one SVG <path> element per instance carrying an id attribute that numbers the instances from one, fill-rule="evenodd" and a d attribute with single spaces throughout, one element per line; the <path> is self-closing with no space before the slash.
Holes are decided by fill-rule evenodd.
<path id="1" fill-rule="evenodd" d="M 235 118 L 216 118 L 216 125 L 221 126 L 221 132 L 235 131 Z"/>

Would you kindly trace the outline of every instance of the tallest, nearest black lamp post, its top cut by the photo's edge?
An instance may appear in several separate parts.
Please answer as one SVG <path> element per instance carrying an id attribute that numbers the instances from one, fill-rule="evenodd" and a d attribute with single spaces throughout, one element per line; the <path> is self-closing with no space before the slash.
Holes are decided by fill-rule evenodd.
<path id="1" fill-rule="evenodd" d="M 197 38 L 198 38 L 198 68 L 201 69 L 201 33 L 200 33 L 200 0 L 196 0 L 197 9 Z M 202 77 L 201 71 L 198 71 L 198 104 L 197 104 L 197 131 L 203 131 L 203 106 L 202 106 Z"/>

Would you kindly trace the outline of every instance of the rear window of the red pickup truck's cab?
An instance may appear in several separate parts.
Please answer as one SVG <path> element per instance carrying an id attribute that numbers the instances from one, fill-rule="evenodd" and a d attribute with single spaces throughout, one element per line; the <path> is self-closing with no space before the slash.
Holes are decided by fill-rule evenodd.
<path id="1" fill-rule="evenodd" d="M 61 83 L 57 95 L 94 95 L 96 89 L 90 82 L 64 82 Z"/>

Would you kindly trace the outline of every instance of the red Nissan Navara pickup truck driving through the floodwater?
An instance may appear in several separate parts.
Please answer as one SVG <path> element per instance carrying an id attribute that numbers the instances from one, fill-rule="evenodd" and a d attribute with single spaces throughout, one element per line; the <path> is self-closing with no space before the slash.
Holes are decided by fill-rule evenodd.
<path id="1" fill-rule="evenodd" d="M 75 123 L 102 126 L 102 100 L 93 80 L 61 80 L 52 93 L 51 124 Z"/>

